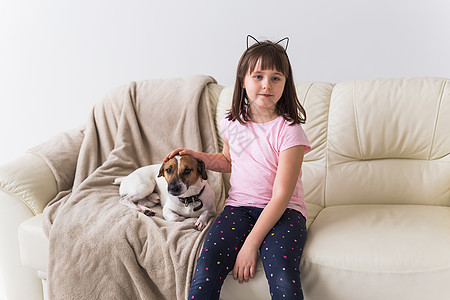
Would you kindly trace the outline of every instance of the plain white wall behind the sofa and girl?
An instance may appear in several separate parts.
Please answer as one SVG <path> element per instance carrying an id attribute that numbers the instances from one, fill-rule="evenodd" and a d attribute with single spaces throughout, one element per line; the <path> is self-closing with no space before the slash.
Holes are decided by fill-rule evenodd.
<path id="1" fill-rule="evenodd" d="M 448 0 L 0 0 L 0 163 L 131 80 L 232 84 L 245 36 L 291 38 L 299 80 L 450 78 Z"/>

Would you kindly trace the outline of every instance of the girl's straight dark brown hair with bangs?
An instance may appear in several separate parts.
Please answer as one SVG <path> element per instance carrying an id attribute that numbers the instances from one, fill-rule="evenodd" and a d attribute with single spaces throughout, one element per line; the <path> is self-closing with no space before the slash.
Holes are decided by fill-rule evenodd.
<path id="1" fill-rule="evenodd" d="M 247 93 L 243 83 L 245 75 L 255 69 L 259 60 L 263 70 L 274 69 L 286 77 L 283 94 L 275 107 L 276 114 L 292 122 L 291 125 L 304 124 L 306 111 L 297 98 L 291 63 L 285 49 L 271 41 L 258 42 L 242 54 L 236 72 L 232 106 L 226 118 L 230 121 L 238 120 L 242 124 L 251 121 L 246 109 Z"/>

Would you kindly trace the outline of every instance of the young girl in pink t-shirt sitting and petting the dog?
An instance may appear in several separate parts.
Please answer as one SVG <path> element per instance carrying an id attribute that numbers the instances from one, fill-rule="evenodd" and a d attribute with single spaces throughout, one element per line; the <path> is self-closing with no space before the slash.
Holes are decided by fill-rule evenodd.
<path id="1" fill-rule="evenodd" d="M 188 300 L 219 299 L 232 271 L 239 283 L 255 275 L 258 251 L 273 299 L 303 299 L 299 263 L 306 240 L 301 166 L 310 150 L 300 126 L 292 69 L 278 43 L 258 42 L 242 55 L 232 108 L 220 122 L 222 153 L 176 149 L 231 172 L 225 208 L 211 226 Z"/>

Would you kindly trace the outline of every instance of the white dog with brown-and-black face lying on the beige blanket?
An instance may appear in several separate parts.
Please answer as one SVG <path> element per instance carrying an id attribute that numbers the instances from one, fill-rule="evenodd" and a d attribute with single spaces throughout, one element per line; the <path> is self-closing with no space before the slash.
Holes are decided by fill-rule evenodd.
<path id="1" fill-rule="evenodd" d="M 141 167 L 126 177 L 119 177 L 119 202 L 147 216 L 158 203 L 168 221 L 197 218 L 195 228 L 203 230 L 215 216 L 214 191 L 208 184 L 203 161 L 189 155 L 175 156 L 159 165 Z"/>

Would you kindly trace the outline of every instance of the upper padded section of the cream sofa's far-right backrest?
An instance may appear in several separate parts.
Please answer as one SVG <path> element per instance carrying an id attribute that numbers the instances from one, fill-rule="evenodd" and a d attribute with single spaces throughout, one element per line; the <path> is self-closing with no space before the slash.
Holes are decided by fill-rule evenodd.
<path id="1" fill-rule="evenodd" d="M 330 159 L 439 159 L 450 148 L 448 113 L 444 79 L 339 83 L 330 103 Z"/>

